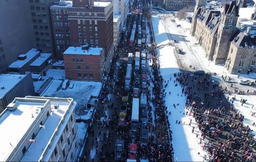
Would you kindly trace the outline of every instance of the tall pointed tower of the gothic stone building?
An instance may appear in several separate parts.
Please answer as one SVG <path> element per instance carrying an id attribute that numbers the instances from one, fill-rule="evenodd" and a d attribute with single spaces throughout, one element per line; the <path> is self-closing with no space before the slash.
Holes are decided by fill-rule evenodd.
<path id="1" fill-rule="evenodd" d="M 230 46 L 230 37 L 236 32 L 236 24 L 238 19 L 239 7 L 236 5 L 236 1 L 232 0 L 230 4 L 225 5 L 222 19 L 218 28 L 216 48 L 213 55 L 213 61 L 215 64 L 224 64 L 228 49 Z"/>

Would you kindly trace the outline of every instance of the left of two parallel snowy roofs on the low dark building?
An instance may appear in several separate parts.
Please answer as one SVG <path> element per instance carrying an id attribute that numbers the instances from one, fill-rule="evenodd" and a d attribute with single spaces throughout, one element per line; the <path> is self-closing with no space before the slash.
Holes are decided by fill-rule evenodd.
<path id="1" fill-rule="evenodd" d="M 24 57 L 24 55 L 26 55 L 27 58 L 25 60 L 17 60 L 15 62 L 13 62 L 11 65 L 9 65 L 9 68 L 23 67 L 24 65 L 26 65 L 27 62 L 29 62 L 31 59 L 36 57 L 36 55 L 38 55 L 38 53 L 40 53 L 40 51 L 37 51 L 37 49 L 31 49 L 26 54 L 19 55 L 18 57 Z"/>

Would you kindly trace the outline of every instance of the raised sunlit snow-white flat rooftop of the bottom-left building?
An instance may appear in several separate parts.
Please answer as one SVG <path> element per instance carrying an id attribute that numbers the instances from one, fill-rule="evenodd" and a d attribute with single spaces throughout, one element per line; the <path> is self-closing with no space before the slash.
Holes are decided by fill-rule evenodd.
<path id="1" fill-rule="evenodd" d="M 17 147 L 28 128 L 40 114 L 40 107 L 43 107 L 46 102 L 47 100 L 33 102 L 33 100 L 19 100 L 17 98 L 15 102 L 17 109 L 15 111 L 8 111 L 6 109 L 2 112 L 0 116 L 1 162 L 6 161 L 9 154 Z"/>

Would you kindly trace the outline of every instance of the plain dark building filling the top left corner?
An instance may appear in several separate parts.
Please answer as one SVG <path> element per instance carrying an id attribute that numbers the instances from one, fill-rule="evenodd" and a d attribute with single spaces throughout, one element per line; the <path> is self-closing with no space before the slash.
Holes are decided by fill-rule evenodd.
<path id="1" fill-rule="evenodd" d="M 36 46 L 28 0 L 0 0 L 0 22 L 0 73 L 7 73 L 19 53 Z"/>

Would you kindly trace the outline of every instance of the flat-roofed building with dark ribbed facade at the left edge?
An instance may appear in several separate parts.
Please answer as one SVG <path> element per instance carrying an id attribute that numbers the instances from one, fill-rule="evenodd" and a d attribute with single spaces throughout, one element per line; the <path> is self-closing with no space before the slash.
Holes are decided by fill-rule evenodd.
<path id="1" fill-rule="evenodd" d="M 25 75 L 0 74 L 0 85 L 0 112 L 2 112 L 15 97 L 35 95 L 31 73 L 26 73 Z"/>

